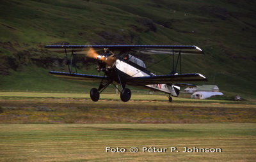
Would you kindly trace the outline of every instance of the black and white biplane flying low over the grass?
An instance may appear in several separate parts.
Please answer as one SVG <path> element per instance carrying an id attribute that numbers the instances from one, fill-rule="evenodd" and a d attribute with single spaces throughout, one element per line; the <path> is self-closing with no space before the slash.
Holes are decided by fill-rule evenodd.
<path id="1" fill-rule="evenodd" d="M 204 55 L 204 52 L 194 45 L 47 45 L 45 48 L 65 53 L 69 60 L 68 72 L 49 71 L 51 75 L 85 82 L 99 82 L 99 87 L 90 90 L 92 101 L 98 101 L 100 93 L 108 85 L 113 84 L 124 102 L 131 99 L 131 90 L 126 85 L 163 91 L 169 94 L 169 101 L 172 102 L 172 96 L 179 96 L 181 86 L 195 86 L 185 82 L 207 81 L 207 78 L 200 73 L 181 73 L 181 55 Z M 77 54 L 86 54 L 87 57 L 96 59 L 98 63 L 96 69 L 104 72 L 104 75 L 88 75 L 74 71 Z M 135 55 L 143 57 L 146 54 L 168 54 L 173 57 L 172 72 L 155 75 L 148 71 L 145 63 L 135 57 Z M 180 73 L 177 73 L 178 64 L 180 64 Z M 120 84 L 121 89 L 116 84 Z"/>

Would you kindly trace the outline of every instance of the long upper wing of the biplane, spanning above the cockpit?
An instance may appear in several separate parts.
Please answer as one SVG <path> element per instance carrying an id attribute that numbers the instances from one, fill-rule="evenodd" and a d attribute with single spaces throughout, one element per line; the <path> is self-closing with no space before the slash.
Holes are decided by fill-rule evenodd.
<path id="1" fill-rule="evenodd" d="M 134 50 L 141 54 L 191 54 L 204 55 L 204 52 L 195 45 L 47 45 L 45 48 L 58 53 L 86 54 L 90 48 L 102 50 L 128 51 Z"/>

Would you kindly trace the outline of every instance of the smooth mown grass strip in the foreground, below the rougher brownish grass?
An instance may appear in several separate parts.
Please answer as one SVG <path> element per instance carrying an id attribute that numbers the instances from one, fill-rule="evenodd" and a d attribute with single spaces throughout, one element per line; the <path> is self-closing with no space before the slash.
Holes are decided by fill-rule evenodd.
<path id="1" fill-rule="evenodd" d="M 256 126 L 248 123 L 1 124 L 0 135 L 0 161 L 255 161 L 256 158 Z M 106 152 L 106 147 L 112 152 Z M 131 147 L 139 151 L 132 153 Z M 150 147 L 159 150 L 154 152 Z M 177 150 L 171 152 L 171 147 Z M 184 147 L 220 148 L 221 152 L 183 152 Z M 115 152 L 117 148 L 124 149 Z M 164 148 L 166 151 L 160 152 Z"/>

